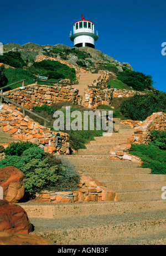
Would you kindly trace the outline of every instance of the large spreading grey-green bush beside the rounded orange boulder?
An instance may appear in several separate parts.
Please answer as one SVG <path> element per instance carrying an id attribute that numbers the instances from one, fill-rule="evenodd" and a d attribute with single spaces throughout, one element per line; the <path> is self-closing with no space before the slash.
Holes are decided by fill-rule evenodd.
<path id="1" fill-rule="evenodd" d="M 40 147 L 30 147 L 24 150 L 22 156 L 7 155 L 0 161 L 0 168 L 15 166 L 24 175 L 25 192 L 35 194 L 41 190 L 63 188 L 66 191 L 76 189 L 79 175 L 68 171 L 61 165 L 61 160 L 46 154 Z"/>

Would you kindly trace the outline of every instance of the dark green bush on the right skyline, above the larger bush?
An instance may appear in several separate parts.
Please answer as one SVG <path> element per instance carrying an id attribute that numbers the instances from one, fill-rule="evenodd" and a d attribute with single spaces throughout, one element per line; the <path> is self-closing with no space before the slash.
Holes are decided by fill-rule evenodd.
<path id="1" fill-rule="evenodd" d="M 150 89 L 153 81 L 152 76 L 145 75 L 141 72 L 125 70 L 117 74 L 118 80 L 121 80 L 124 84 L 131 86 L 134 90 L 143 91 L 144 89 Z"/>

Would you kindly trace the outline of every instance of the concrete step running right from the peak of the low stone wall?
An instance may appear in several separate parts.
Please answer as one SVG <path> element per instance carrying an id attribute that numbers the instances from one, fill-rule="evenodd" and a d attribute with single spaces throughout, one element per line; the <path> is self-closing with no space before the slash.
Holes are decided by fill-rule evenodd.
<path id="1" fill-rule="evenodd" d="M 127 168 L 128 170 L 128 168 Z M 91 175 L 95 180 L 101 181 L 165 181 L 166 175 L 154 175 L 154 174 L 133 174 L 133 173 L 104 173 L 104 172 L 84 172 L 85 175 Z"/>

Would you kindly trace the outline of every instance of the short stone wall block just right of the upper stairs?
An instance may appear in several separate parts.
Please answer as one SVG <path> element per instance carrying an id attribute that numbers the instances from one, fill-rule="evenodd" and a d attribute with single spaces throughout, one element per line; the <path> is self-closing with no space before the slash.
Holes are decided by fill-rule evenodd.
<path id="1" fill-rule="evenodd" d="M 96 109 L 100 105 L 111 105 L 113 89 L 87 89 L 85 90 L 84 106 Z"/>

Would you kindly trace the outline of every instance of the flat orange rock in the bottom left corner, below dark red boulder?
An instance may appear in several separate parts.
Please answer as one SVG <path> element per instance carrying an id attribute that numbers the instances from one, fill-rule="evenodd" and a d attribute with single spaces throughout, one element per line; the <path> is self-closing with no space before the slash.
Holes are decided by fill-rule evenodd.
<path id="1" fill-rule="evenodd" d="M 0 245 L 51 245 L 51 242 L 39 235 L 1 232 Z"/>

